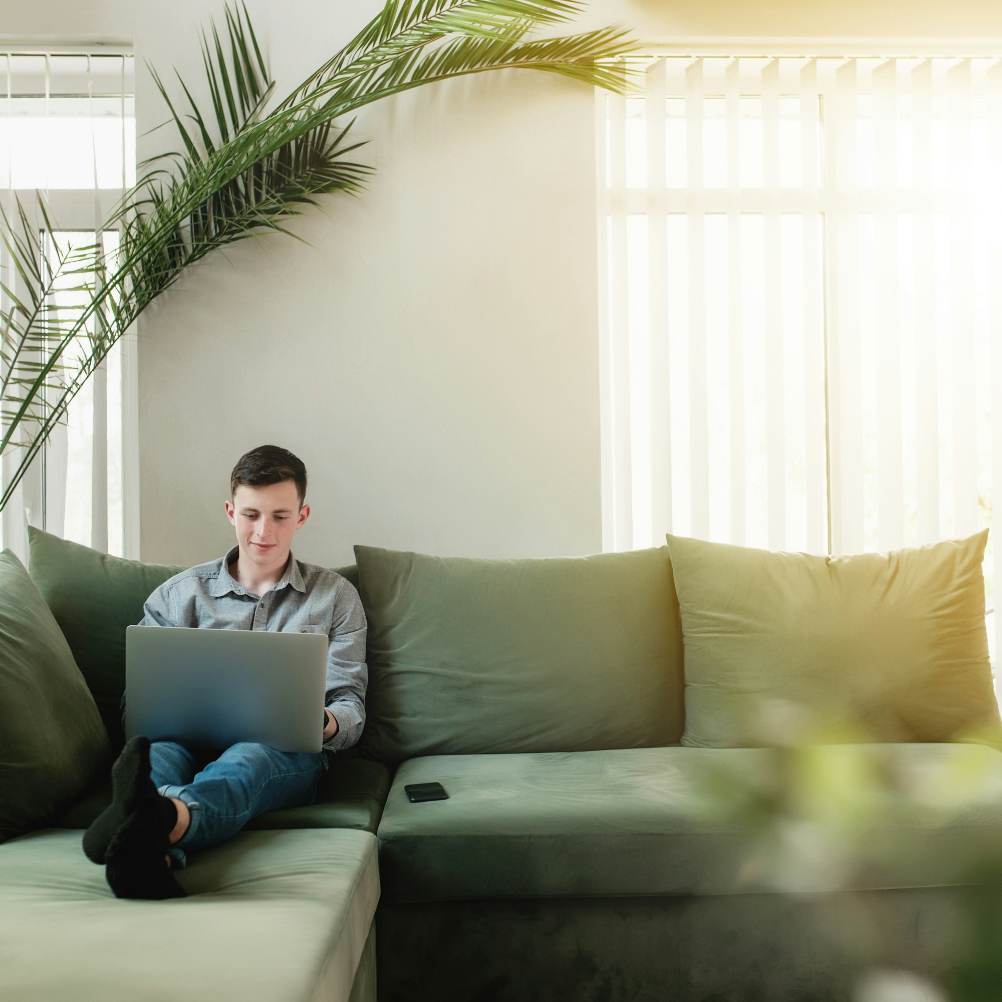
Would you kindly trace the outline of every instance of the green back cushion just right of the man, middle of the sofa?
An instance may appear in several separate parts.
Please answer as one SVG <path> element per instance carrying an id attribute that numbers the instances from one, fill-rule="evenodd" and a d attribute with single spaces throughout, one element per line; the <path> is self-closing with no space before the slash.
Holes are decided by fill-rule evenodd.
<path id="1" fill-rule="evenodd" d="M 475 560 L 356 546 L 369 620 L 362 754 L 677 743 L 667 548 Z"/>

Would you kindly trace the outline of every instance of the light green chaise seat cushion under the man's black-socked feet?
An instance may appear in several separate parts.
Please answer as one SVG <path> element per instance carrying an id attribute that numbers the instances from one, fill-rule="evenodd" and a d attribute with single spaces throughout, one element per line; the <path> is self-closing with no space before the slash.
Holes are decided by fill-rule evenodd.
<path id="1" fill-rule="evenodd" d="M 78 832 L 0 846 L 0 998 L 348 999 L 379 898 L 368 832 L 241 832 L 192 854 L 189 897 L 119 901 Z"/>

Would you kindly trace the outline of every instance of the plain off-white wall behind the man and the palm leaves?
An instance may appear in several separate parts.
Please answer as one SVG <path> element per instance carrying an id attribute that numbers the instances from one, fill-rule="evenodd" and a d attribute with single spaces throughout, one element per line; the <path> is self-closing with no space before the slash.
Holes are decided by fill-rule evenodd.
<path id="1" fill-rule="evenodd" d="M 3 0 L 11 3 L 11 0 Z M 292 85 L 377 0 L 253 0 L 273 72 Z M 197 78 L 214 0 L 20 4 L 5 33 L 84 28 Z M 1002 36 L 996 3 L 597 0 L 647 39 Z M 161 119 L 141 78 L 139 131 Z M 277 442 L 310 468 L 298 552 L 350 562 L 355 542 L 450 555 L 601 548 L 588 88 L 541 74 L 422 88 L 359 116 L 378 172 L 297 228 L 194 269 L 140 327 L 142 556 L 217 556 L 228 471 Z M 161 133 L 162 134 L 162 133 Z M 148 143 L 149 140 L 147 140 Z M 149 150 L 147 145 L 146 150 Z"/>

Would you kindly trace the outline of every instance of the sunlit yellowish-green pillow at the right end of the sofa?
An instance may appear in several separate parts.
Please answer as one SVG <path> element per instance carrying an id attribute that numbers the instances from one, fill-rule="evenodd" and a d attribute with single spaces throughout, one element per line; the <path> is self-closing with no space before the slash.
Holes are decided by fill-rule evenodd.
<path id="1" fill-rule="evenodd" d="M 669 535 L 681 742 L 997 740 L 987 540 L 826 557 Z"/>

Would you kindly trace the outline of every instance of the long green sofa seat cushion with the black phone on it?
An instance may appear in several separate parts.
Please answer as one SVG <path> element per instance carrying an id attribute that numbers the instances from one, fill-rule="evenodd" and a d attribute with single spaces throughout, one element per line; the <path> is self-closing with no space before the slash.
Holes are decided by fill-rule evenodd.
<path id="1" fill-rule="evenodd" d="M 770 843 L 780 748 L 624 748 L 436 756 L 397 771 L 379 827 L 383 898 L 441 900 L 732 894 L 773 889 L 754 864 Z M 851 786 L 860 803 L 852 867 L 836 852 L 779 875 L 789 889 L 950 885 L 982 850 L 1002 845 L 1002 753 L 976 744 L 829 745 L 810 749 L 817 777 L 892 777 L 885 793 Z M 868 765 L 869 764 L 869 765 Z M 977 777 L 977 782 L 971 781 Z M 956 781 L 956 782 L 955 782 Z M 957 794 L 964 782 L 970 798 Z M 439 782 L 449 799 L 411 804 L 405 785 Z M 817 788 L 816 788 L 817 789 Z M 883 788 L 881 788 L 883 789 Z M 823 799 L 824 800 L 824 799 Z M 824 813 L 825 803 L 819 805 Z M 794 825 L 796 839 L 807 831 Z M 782 850 L 782 842 L 780 845 Z M 767 861 L 770 858 L 767 853 Z M 760 861 L 761 862 L 761 861 Z M 808 861 L 811 863 L 811 861 Z"/>

